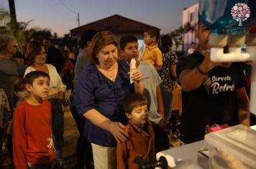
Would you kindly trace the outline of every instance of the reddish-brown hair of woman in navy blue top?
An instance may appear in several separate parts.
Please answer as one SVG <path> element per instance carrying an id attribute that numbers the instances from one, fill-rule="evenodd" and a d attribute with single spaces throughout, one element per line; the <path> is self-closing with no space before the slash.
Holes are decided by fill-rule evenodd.
<path id="1" fill-rule="evenodd" d="M 119 41 L 112 32 L 109 32 L 109 31 L 99 32 L 93 37 L 91 42 L 91 51 L 90 51 L 91 62 L 93 64 L 99 64 L 99 59 L 97 57 L 97 54 L 103 47 L 106 47 L 109 44 L 114 44 L 114 46 L 117 48 L 117 54 L 119 55 L 120 54 Z"/>

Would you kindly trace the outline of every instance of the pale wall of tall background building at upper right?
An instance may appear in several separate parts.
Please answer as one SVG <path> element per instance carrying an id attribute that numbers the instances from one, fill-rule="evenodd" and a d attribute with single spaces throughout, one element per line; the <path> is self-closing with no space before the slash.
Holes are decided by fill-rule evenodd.
<path id="1" fill-rule="evenodd" d="M 183 26 L 188 22 L 190 22 L 191 25 L 197 24 L 198 7 L 199 7 L 199 4 L 197 3 L 183 10 L 183 19 L 182 19 Z M 198 44 L 198 40 L 196 39 L 195 32 L 193 32 L 193 34 L 191 32 L 188 32 L 184 35 L 184 51 L 188 50 L 191 42 L 196 42 L 196 44 Z"/>

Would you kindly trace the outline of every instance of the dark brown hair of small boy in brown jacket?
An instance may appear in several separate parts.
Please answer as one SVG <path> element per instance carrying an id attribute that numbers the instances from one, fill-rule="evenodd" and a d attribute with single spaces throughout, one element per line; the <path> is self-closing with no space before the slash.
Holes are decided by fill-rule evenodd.
<path id="1" fill-rule="evenodd" d="M 127 95 L 123 100 L 124 112 L 131 114 L 134 107 L 147 105 L 147 98 L 138 93 Z"/>

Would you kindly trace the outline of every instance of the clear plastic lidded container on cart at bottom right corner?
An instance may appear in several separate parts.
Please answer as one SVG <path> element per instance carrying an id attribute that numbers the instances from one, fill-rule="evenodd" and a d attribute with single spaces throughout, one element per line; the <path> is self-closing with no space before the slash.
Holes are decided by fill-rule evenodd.
<path id="1" fill-rule="evenodd" d="M 211 169 L 256 168 L 256 131 L 235 125 L 205 135 Z"/>

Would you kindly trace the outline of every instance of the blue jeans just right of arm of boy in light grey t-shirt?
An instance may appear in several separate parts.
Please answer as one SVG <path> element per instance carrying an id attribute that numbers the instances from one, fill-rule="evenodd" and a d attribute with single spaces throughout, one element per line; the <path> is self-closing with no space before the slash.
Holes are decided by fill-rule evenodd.
<path id="1" fill-rule="evenodd" d="M 170 114 L 173 109 L 173 90 L 161 87 L 162 97 L 163 97 L 163 108 L 165 112 L 165 125 L 170 119 Z"/>

